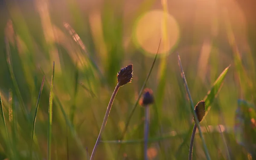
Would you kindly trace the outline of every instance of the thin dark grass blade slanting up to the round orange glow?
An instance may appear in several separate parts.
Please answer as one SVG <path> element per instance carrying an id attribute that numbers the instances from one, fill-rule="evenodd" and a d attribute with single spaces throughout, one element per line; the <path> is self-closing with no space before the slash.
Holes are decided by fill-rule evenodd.
<path id="1" fill-rule="evenodd" d="M 135 111 L 135 109 L 136 109 L 136 107 L 137 107 L 137 104 L 138 104 L 139 101 L 140 101 L 140 96 L 141 96 L 142 93 L 143 93 L 143 90 L 144 90 L 144 88 L 145 88 L 145 86 L 146 86 L 146 84 L 147 84 L 147 81 L 148 81 L 148 79 L 149 79 L 149 76 L 150 76 L 150 74 L 151 74 L 151 71 L 152 71 L 152 69 L 153 69 L 153 67 L 154 67 L 154 64 L 155 64 L 155 62 L 156 62 L 157 55 L 158 55 L 159 48 L 160 48 L 160 44 L 161 44 L 161 39 L 160 39 L 160 42 L 159 42 L 159 45 L 158 45 L 158 48 L 157 48 L 157 53 L 156 53 L 156 55 L 155 55 L 155 57 L 154 57 L 154 61 L 153 61 L 152 65 L 151 65 L 151 68 L 150 68 L 150 70 L 149 70 L 149 72 L 148 72 L 147 78 L 145 79 L 145 81 L 144 81 L 144 83 L 143 83 L 143 86 L 142 86 L 141 89 L 140 89 L 140 93 L 139 93 L 139 95 L 138 95 L 138 98 L 137 98 L 137 100 L 136 100 L 134 106 L 133 106 L 132 109 L 131 109 L 131 113 L 129 114 L 129 116 L 128 116 L 128 118 L 127 118 L 127 121 L 126 121 L 126 123 L 125 123 L 125 129 L 124 129 L 124 131 L 122 132 L 121 137 L 119 138 L 120 140 L 122 140 L 122 139 L 124 138 L 125 133 L 126 133 L 126 131 L 127 131 L 127 129 L 128 129 L 128 126 L 129 126 L 131 117 L 132 117 L 132 115 L 134 114 L 134 111 Z"/>

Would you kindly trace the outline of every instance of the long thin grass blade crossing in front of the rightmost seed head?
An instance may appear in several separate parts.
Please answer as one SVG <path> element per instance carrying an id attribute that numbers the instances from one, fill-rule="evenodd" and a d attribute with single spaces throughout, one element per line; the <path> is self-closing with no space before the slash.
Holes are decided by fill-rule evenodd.
<path id="1" fill-rule="evenodd" d="M 189 87 L 188 87 L 188 84 L 186 82 L 186 77 L 185 77 L 185 73 L 183 71 L 183 67 L 182 67 L 182 64 L 181 64 L 181 60 L 180 60 L 180 55 L 178 55 L 178 62 L 179 62 L 179 66 L 180 66 L 180 71 L 181 71 L 181 74 L 182 74 L 182 79 L 184 81 L 184 84 L 185 84 L 185 87 L 186 87 L 186 91 L 189 95 L 189 100 L 190 100 L 190 107 L 191 107 L 191 111 L 194 115 L 194 119 L 195 119 L 195 124 L 197 125 L 198 127 L 198 131 L 199 131 L 199 134 L 200 134 L 200 137 L 201 137 L 201 140 L 202 140 L 202 143 L 203 143 L 203 146 L 204 146 L 204 153 L 207 157 L 207 160 L 210 160 L 210 156 L 209 156 L 209 152 L 208 152 L 208 149 L 207 149 L 207 146 L 206 146 L 206 143 L 204 141 L 204 138 L 203 138 L 203 134 L 202 134 L 202 131 L 201 131 L 201 128 L 200 128 L 200 124 L 199 124 L 199 121 L 198 121 L 198 118 L 196 116 L 196 113 L 195 113 L 195 109 L 194 109 L 194 104 L 193 104 L 193 101 L 192 101 L 192 97 L 190 95 L 190 92 L 189 92 Z"/>

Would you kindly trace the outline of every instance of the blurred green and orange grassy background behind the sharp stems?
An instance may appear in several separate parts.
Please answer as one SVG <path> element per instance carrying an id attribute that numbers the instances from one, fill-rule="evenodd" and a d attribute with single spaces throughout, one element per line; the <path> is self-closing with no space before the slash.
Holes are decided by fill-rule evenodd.
<path id="1" fill-rule="evenodd" d="M 233 126 L 237 100 L 255 102 L 255 5 L 253 0 L 1 1 L 0 93 L 9 132 L 8 138 L 1 120 L 1 159 L 29 159 L 32 119 L 44 75 L 32 149 L 33 159 L 46 159 L 53 61 L 52 159 L 81 160 L 86 147 L 92 152 L 117 82 L 116 73 L 132 63 L 133 81 L 119 89 L 103 134 L 103 140 L 118 140 L 161 38 L 160 53 L 146 85 L 156 100 L 149 126 L 149 137 L 156 139 L 148 145 L 150 160 L 188 157 L 192 113 L 177 52 L 195 104 L 231 64 L 201 125 L 209 129 L 204 129 L 204 139 L 212 160 L 227 160 L 218 124 L 225 126 L 231 159 L 250 159 L 236 143 Z M 142 160 L 143 143 L 136 140 L 143 138 L 143 117 L 144 109 L 137 107 L 124 138 L 134 143 L 123 143 L 120 154 L 120 144 L 100 143 L 96 159 Z M 179 149 L 187 134 L 188 140 Z M 193 157 L 205 159 L 198 135 Z"/>

